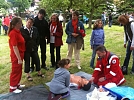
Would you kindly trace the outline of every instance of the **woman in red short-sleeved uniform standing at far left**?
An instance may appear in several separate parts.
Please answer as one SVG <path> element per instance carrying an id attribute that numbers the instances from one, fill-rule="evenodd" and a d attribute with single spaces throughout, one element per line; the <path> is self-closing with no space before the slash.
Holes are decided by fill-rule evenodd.
<path id="1" fill-rule="evenodd" d="M 20 86 L 22 76 L 22 63 L 25 51 L 25 41 L 20 33 L 22 20 L 14 17 L 10 22 L 8 36 L 12 69 L 10 73 L 10 92 L 14 92 Z"/>

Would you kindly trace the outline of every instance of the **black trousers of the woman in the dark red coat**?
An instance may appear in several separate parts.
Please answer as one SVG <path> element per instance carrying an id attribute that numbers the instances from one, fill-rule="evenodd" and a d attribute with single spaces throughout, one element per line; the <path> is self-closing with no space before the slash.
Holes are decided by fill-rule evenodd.
<path id="1" fill-rule="evenodd" d="M 54 43 L 50 43 L 50 54 L 51 54 L 51 64 L 52 66 L 56 65 L 56 68 L 58 68 L 57 64 L 59 60 L 61 59 L 60 56 L 60 47 L 61 46 L 54 46 Z M 54 49 L 56 48 L 56 61 L 55 61 L 55 54 L 54 54 Z"/>

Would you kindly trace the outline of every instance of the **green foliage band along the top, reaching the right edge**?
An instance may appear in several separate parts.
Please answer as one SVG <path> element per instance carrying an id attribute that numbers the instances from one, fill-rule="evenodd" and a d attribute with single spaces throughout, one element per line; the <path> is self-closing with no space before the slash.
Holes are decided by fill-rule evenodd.
<path id="1" fill-rule="evenodd" d="M 89 18 L 89 28 L 91 28 L 92 20 L 101 18 L 104 11 L 115 14 L 132 12 L 134 0 L 42 0 L 40 6 L 45 8 L 49 15 L 56 10 L 61 10 L 65 15 L 70 9 L 78 10 Z M 117 8 L 117 11 L 114 8 Z"/>

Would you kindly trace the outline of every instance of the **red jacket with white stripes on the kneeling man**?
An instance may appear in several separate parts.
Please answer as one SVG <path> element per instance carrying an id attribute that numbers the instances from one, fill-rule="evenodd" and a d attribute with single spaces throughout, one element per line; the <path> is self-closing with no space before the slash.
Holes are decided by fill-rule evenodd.
<path id="1" fill-rule="evenodd" d="M 106 78 L 104 82 L 97 81 L 98 85 L 105 85 L 110 82 L 121 85 L 125 82 L 125 78 L 120 69 L 119 58 L 116 55 L 112 55 L 110 58 L 109 56 L 110 52 L 107 51 L 104 58 L 98 58 L 93 77 L 95 77 L 95 80 L 98 80 L 100 77 Z"/>

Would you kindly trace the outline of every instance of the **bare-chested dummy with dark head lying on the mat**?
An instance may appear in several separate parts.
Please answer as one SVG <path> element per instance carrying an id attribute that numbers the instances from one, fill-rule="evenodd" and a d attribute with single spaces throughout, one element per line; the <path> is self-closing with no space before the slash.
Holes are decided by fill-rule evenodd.
<path id="1" fill-rule="evenodd" d="M 85 91 L 88 91 L 91 87 L 91 83 L 83 76 L 76 76 L 70 74 L 70 82 L 75 83 L 78 86 L 78 89 L 82 88 Z M 70 87 L 71 88 L 71 87 Z"/>

